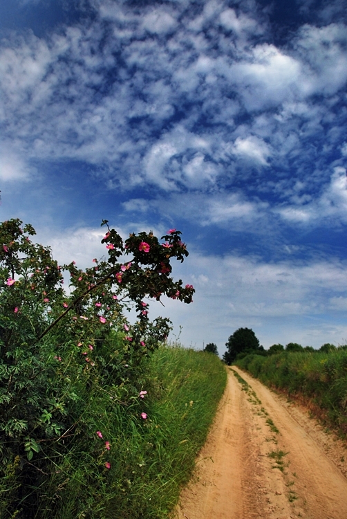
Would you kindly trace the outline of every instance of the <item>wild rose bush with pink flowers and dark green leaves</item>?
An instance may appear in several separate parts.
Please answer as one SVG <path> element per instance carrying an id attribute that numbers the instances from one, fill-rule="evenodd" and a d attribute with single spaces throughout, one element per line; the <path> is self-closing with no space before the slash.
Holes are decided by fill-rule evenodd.
<path id="1" fill-rule="evenodd" d="M 171 260 L 182 262 L 188 255 L 180 231 L 169 230 L 164 242 L 153 233 L 132 234 L 123 242 L 108 221 L 102 225 L 108 258 L 94 259 L 84 271 L 75 262 L 59 266 L 50 248 L 32 242 L 32 226 L 22 226 L 19 219 L 0 225 L 4 517 L 21 513 L 23 503 L 26 517 L 39 517 L 35 514 L 41 506 L 48 509 L 47 503 L 57 500 L 57 489 L 66 484 L 66 474 L 57 466 L 77 441 L 79 448 L 88 446 L 84 463 L 91 473 L 112 469 L 110 439 L 104 436 L 100 443 L 101 401 L 106 394 L 110 406 L 126 407 L 135 419 L 147 419 L 141 407 L 146 394 L 142 361 L 170 330 L 166 318 L 149 320 L 144 299 L 167 295 L 185 303 L 192 300 L 193 286 L 170 277 Z M 69 294 L 63 288 L 64 271 L 70 275 Z M 134 325 L 124 317 L 131 306 L 138 316 Z M 55 483 L 43 498 L 39 488 L 52 474 Z M 36 490 L 28 491 L 32 488 Z"/>

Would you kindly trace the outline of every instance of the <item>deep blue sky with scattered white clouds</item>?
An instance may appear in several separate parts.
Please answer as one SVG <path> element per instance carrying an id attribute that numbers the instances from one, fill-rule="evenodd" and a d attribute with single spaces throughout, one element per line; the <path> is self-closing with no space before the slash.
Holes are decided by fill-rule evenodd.
<path id="1" fill-rule="evenodd" d="M 171 339 L 347 343 L 344 0 L 2 0 L 1 221 L 59 262 L 182 231 Z"/>

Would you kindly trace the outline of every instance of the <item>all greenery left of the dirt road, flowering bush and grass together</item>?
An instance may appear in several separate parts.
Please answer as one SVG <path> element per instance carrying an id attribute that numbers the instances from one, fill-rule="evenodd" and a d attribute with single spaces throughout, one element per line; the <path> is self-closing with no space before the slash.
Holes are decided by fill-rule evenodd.
<path id="1" fill-rule="evenodd" d="M 107 257 L 83 271 L 0 224 L 1 519 L 165 518 L 223 392 L 218 356 L 163 346 L 171 322 L 149 320 L 151 298 L 191 302 L 170 276 L 180 232 L 102 225 Z"/>

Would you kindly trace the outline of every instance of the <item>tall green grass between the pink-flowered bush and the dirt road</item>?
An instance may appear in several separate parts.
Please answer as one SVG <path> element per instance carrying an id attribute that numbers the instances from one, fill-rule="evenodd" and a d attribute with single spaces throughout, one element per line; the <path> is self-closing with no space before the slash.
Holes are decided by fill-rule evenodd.
<path id="1" fill-rule="evenodd" d="M 37 519 L 167 518 L 194 468 L 225 382 L 225 367 L 216 355 L 160 347 L 138 380 L 147 391 L 144 399 L 122 406 L 107 387 L 88 388 L 83 396 L 90 430 L 79 433 L 77 426 L 67 435 L 64 455 L 55 456 L 52 448 L 51 466 L 36 488 L 25 487 L 15 512 L 8 499 L 1 501 L 20 481 L 19 459 L 9 466 L 0 482 L 1 518 L 25 519 L 28 507 L 30 518 Z M 97 430 L 103 438 L 95 446 Z"/>

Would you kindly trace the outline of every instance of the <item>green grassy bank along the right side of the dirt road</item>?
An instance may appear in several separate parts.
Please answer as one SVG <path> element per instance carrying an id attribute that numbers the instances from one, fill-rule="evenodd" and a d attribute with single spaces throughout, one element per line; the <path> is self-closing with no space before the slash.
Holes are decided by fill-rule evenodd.
<path id="1" fill-rule="evenodd" d="M 347 434 L 347 352 L 283 352 L 269 357 L 248 355 L 236 361 L 269 386 L 303 394 Z"/>

